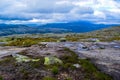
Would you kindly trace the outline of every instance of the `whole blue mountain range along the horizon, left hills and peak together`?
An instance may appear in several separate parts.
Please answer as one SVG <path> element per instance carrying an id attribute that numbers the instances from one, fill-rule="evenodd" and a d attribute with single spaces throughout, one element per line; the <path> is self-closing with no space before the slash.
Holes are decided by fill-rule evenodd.
<path id="1" fill-rule="evenodd" d="M 13 25 L 13 24 L 0 24 L 0 36 L 12 34 L 36 34 L 36 33 L 83 33 L 102 28 L 115 26 L 104 24 L 93 24 L 90 22 L 79 21 L 69 23 L 51 23 L 40 26 L 31 25 Z"/>

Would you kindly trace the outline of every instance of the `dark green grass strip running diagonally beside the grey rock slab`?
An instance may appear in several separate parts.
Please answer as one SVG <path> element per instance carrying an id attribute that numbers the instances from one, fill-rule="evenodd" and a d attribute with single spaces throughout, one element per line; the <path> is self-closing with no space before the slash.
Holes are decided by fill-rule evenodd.
<path id="1" fill-rule="evenodd" d="M 90 61 L 90 59 L 78 59 L 78 56 L 75 52 L 71 51 L 68 48 L 64 48 L 66 54 L 61 57 L 63 60 L 64 69 L 73 69 L 73 64 L 78 63 L 81 65 L 81 68 L 84 70 L 85 80 L 112 80 L 112 77 L 99 71 L 99 69 Z M 75 68 L 73 69 L 75 70 Z"/>

